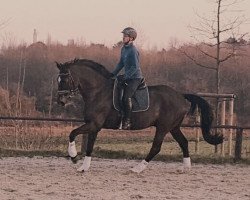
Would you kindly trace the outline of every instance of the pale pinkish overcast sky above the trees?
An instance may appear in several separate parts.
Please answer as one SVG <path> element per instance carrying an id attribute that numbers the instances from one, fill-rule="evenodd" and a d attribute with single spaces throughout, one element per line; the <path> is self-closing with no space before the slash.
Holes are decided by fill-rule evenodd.
<path id="1" fill-rule="evenodd" d="M 145 48 L 168 47 L 173 39 L 191 40 L 187 26 L 197 21 L 195 12 L 211 15 L 215 0 L 0 0 L 0 42 L 32 42 L 33 30 L 38 40 L 67 44 L 68 39 L 111 46 L 121 40 L 127 26 L 139 32 L 138 42 Z M 241 9 L 250 18 L 250 0 Z M 237 12 L 230 15 L 237 15 Z M 242 26 L 250 31 L 250 24 Z M 249 36 L 248 36 L 249 38 Z"/>

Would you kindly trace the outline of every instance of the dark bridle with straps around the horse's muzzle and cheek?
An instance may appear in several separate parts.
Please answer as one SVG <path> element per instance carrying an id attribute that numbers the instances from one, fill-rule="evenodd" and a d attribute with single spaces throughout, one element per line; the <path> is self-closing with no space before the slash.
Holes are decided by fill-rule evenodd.
<path id="1" fill-rule="evenodd" d="M 63 79 L 68 79 L 68 89 L 63 89 L 63 90 L 58 90 L 57 94 L 58 96 L 67 96 L 67 97 L 72 97 L 76 95 L 79 92 L 78 87 L 76 86 L 74 79 L 70 72 L 67 73 L 60 73 L 57 77 L 58 83 L 61 82 Z"/>

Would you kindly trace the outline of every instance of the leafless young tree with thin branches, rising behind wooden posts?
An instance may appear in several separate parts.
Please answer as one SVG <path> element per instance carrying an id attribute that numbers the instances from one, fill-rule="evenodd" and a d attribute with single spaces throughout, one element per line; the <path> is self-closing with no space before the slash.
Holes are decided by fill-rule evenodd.
<path id="1" fill-rule="evenodd" d="M 244 37 L 247 33 L 240 33 L 240 26 L 247 22 L 241 10 L 236 7 L 244 0 L 214 0 L 216 9 L 213 16 L 208 18 L 199 15 L 198 25 L 189 26 L 192 37 L 197 42 L 192 47 L 200 54 L 212 60 L 213 64 L 202 63 L 195 55 L 185 49 L 179 50 L 200 67 L 216 72 L 216 93 L 220 93 L 220 71 L 222 63 L 235 57 L 242 45 L 246 45 Z M 237 15 L 232 16 L 232 13 Z M 229 16 L 230 14 L 230 16 Z"/>

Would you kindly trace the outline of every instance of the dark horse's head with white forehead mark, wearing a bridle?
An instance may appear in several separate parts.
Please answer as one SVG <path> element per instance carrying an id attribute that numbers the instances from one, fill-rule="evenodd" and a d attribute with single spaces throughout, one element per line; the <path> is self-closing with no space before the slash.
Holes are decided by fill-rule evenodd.
<path id="1" fill-rule="evenodd" d="M 57 103 L 65 106 L 69 102 L 70 98 L 78 92 L 78 87 L 70 73 L 69 66 L 57 62 L 56 65 L 59 69 L 59 75 L 57 78 Z"/>

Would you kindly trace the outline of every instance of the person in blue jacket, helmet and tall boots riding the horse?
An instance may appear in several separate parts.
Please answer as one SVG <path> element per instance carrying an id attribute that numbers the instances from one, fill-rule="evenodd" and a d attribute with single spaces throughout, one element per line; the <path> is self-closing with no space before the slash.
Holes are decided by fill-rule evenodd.
<path id="1" fill-rule="evenodd" d="M 112 72 L 116 76 L 122 68 L 125 69 L 125 87 L 122 98 L 124 116 L 122 129 L 129 130 L 131 127 L 132 96 L 140 85 L 142 72 L 139 64 L 139 52 L 133 44 L 137 37 L 136 30 L 127 27 L 123 31 L 123 47 L 120 61 Z"/>

